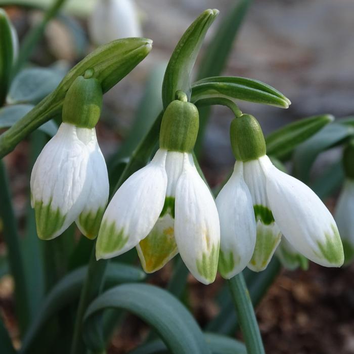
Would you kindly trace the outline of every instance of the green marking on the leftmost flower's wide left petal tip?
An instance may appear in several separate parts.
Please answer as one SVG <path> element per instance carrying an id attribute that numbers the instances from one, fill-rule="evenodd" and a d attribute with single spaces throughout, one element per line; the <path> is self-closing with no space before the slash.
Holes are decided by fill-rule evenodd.
<path id="1" fill-rule="evenodd" d="M 62 228 L 66 215 L 63 215 L 59 207 L 52 209 L 52 199 L 48 205 L 43 201 L 34 202 L 34 214 L 38 237 L 42 240 L 51 240 L 53 235 Z"/>

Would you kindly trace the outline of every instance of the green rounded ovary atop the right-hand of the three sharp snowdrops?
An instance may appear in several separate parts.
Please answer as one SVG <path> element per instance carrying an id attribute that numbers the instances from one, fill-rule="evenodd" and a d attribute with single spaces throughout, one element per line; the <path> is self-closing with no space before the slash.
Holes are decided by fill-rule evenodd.
<path id="1" fill-rule="evenodd" d="M 262 129 L 250 114 L 242 114 L 231 122 L 230 139 L 236 160 L 246 162 L 265 155 Z"/>

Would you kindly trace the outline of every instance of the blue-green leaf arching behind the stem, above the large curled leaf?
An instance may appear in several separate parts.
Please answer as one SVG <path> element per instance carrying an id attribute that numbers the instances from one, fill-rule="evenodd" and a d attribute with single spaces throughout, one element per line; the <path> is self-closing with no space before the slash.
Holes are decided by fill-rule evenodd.
<path id="1" fill-rule="evenodd" d="M 76 269 L 62 278 L 50 291 L 42 303 L 37 317 L 31 323 L 23 339 L 21 352 L 28 352 L 31 343 L 40 335 L 43 325 L 60 309 L 76 300 L 81 292 L 86 276 L 87 266 Z M 145 273 L 130 265 L 111 262 L 105 274 L 105 287 L 109 288 L 118 283 L 137 282 L 145 278 Z"/>

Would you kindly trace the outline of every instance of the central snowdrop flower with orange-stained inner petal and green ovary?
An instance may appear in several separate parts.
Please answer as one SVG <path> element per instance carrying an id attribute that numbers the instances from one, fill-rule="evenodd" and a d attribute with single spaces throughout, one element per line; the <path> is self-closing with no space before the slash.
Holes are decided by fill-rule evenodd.
<path id="1" fill-rule="evenodd" d="M 96 257 L 114 257 L 136 246 L 144 270 L 151 273 L 179 252 L 193 276 L 209 284 L 217 270 L 219 219 L 193 161 L 199 115 L 186 101 L 175 100 L 166 108 L 154 158 L 113 196 Z"/>

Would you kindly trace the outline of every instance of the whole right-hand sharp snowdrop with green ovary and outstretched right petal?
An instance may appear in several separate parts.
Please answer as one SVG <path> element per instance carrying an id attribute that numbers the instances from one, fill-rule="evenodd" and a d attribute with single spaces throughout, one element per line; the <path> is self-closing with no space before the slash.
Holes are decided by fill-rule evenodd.
<path id="1" fill-rule="evenodd" d="M 237 162 L 216 198 L 220 273 L 231 278 L 247 263 L 253 271 L 265 269 L 282 234 L 308 259 L 339 267 L 343 248 L 331 213 L 311 189 L 280 171 L 265 155 L 257 120 L 248 114 L 235 118 L 230 135 Z"/>

